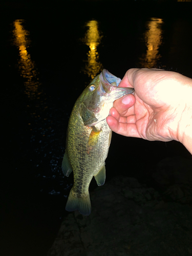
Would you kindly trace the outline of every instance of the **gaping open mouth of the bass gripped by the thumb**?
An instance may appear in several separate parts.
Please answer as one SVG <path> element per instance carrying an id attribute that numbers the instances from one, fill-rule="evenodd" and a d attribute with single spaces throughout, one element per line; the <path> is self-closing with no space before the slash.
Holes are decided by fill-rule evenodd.
<path id="1" fill-rule="evenodd" d="M 100 93 L 114 101 L 126 94 L 131 94 L 134 92 L 134 88 L 118 87 L 120 81 L 120 78 L 114 76 L 108 70 L 103 69 L 100 73 Z"/>

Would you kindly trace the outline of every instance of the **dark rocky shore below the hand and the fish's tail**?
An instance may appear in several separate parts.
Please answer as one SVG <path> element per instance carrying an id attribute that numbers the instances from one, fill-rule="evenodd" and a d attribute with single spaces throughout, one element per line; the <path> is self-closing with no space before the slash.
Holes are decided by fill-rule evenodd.
<path id="1" fill-rule="evenodd" d="M 192 254 L 192 161 L 166 158 L 156 189 L 117 176 L 90 193 L 92 212 L 71 212 L 48 256 Z"/>

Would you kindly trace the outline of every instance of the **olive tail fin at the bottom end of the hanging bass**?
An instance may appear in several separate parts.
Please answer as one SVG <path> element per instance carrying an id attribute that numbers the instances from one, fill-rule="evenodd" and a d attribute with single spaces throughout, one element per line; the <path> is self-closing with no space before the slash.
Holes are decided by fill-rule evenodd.
<path id="1" fill-rule="evenodd" d="M 73 191 L 73 187 L 68 197 L 66 210 L 68 211 L 78 210 L 82 215 L 90 215 L 91 201 L 90 201 L 89 191 L 86 197 L 74 197 L 72 191 Z"/>

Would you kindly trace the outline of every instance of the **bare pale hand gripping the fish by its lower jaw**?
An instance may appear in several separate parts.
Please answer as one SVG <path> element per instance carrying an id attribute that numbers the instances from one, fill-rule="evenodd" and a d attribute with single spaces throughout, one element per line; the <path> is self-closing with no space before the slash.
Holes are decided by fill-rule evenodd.
<path id="1" fill-rule="evenodd" d="M 119 87 L 134 87 L 106 118 L 115 133 L 146 140 L 180 141 L 192 154 L 192 79 L 158 69 L 130 69 Z"/>

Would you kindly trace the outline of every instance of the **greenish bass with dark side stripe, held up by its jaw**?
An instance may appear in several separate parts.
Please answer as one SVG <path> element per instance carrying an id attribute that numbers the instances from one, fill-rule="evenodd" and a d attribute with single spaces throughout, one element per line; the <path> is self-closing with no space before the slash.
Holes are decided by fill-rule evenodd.
<path id="1" fill-rule="evenodd" d="M 105 159 L 112 138 L 106 122 L 113 102 L 134 92 L 133 88 L 118 87 L 121 79 L 103 69 L 83 90 L 76 100 L 69 118 L 66 151 L 62 159 L 62 172 L 73 172 L 66 210 L 91 213 L 89 185 L 93 178 L 98 186 L 105 182 Z"/>

